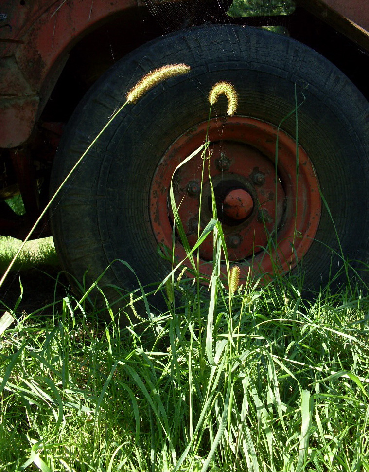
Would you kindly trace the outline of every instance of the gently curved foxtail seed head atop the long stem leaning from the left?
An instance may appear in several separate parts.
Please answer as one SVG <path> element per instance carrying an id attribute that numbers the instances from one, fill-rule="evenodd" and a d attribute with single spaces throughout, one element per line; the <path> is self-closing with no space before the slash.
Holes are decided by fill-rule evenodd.
<path id="1" fill-rule="evenodd" d="M 140 82 L 138 82 L 126 94 L 127 102 L 137 102 L 150 89 L 158 85 L 163 80 L 174 77 L 175 75 L 183 75 L 188 73 L 191 67 L 187 64 L 169 64 L 167 66 L 158 67 L 146 74 Z"/>

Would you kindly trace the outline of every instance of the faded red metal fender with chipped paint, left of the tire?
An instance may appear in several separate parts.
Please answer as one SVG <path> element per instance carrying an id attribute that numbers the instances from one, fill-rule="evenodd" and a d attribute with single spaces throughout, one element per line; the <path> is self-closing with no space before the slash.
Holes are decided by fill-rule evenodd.
<path id="1" fill-rule="evenodd" d="M 0 147 L 8 148 L 29 138 L 40 99 L 46 101 L 45 84 L 56 81 L 71 44 L 104 18 L 137 5 L 135 0 L 21 3 L 7 2 L 0 12 L 11 26 L 0 28 Z"/>

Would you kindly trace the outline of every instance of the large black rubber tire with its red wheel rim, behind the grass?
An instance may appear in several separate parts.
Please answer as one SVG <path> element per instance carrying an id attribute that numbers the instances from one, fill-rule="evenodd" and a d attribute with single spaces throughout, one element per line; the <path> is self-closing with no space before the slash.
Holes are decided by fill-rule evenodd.
<path id="1" fill-rule="evenodd" d="M 137 288 L 137 279 L 143 285 L 162 280 L 171 270 L 158 245 L 172 247 L 172 174 L 203 143 L 209 126 L 218 218 L 242 279 L 249 271 L 293 273 L 304 277 L 305 287 L 319 289 L 349 261 L 367 281 L 368 102 L 323 56 L 262 29 L 195 27 L 158 38 L 118 61 L 70 118 L 53 165 L 51 193 L 123 104 L 125 93 L 153 69 L 174 63 L 192 69 L 128 103 L 53 204 L 53 237 L 64 269 L 78 280 L 88 271 L 88 279 L 96 280 L 110 265 L 100 283 L 128 291 Z M 208 125 L 208 95 L 220 81 L 234 86 L 238 106 L 227 116 L 221 96 Z M 196 157 L 176 177 L 176 201 L 184 200 L 180 216 L 191 244 L 197 235 L 201 162 Z M 203 185 L 205 225 L 212 215 L 209 182 Z M 227 209 L 226 200 L 239 191 L 241 203 Z M 178 240 L 175 244 L 180 259 L 184 248 Z M 209 274 L 211 241 L 200 256 Z"/>

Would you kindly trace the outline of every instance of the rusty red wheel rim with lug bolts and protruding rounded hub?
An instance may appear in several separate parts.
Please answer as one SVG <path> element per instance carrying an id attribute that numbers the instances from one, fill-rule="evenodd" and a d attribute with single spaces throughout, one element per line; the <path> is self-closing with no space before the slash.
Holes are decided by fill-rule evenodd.
<path id="1" fill-rule="evenodd" d="M 178 164 L 203 144 L 207 127 L 208 122 L 203 122 L 181 135 L 164 153 L 153 179 L 151 224 L 158 243 L 170 248 L 172 175 Z M 246 117 L 212 119 L 209 140 L 218 219 L 222 222 L 229 260 L 241 267 L 241 281 L 250 271 L 253 275 L 290 271 L 310 248 L 321 214 L 318 180 L 308 155 L 299 146 L 297 156 L 296 141 L 285 132 Z M 190 246 L 197 240 L 202 163 L 198 153 L 173 177 L 176 204 Z M 211 218 L 206 166 L 200 227 L 204 228 Z M 186 253 L 178 239 L 175 253 L 182 260 Z M 211 275 L 212 256 L 213 241 L 208 236 L 200 246 L 200 271 L 206 276 Z"/>

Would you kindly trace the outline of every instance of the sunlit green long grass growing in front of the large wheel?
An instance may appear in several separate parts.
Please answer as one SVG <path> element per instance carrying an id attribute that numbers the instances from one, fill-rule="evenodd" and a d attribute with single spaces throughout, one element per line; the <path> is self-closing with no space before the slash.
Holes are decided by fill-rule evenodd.
<path id="1" fill-rule="evenodd" d="M 368 470 L 368 302 L 274 283 L 215 299 L 212 320 L 187 295 L 123 330 L 70 295 L 19 319 L 1 339 L 3 470 Z"/>

